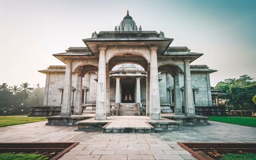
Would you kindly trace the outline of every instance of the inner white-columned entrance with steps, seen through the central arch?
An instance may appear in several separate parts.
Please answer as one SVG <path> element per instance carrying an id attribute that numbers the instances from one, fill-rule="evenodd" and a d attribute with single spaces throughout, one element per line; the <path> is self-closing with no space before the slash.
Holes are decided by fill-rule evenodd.
<path id="1" fill-rule="evenodd" d="M 146 115 L 147 104 L 147 72 L 131 62 L 117 63 L 109 72 L 111 111 L 117 109 L 116 115 Z M 121 111 L 125 108 L 125 111 Z M 131 113 L 131 110 L 132 113 Z M 138 111 L 139 110 L 139 111 Z"/>

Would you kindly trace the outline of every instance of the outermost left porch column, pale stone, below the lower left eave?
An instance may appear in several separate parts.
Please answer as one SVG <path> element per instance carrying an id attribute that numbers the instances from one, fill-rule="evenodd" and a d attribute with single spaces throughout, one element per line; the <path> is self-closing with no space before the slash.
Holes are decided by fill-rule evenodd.
<path id="1" fill-rule="evenodd" d="M 71 116 L 72 61 L 73 59 L 66 60 L 66 71 L 65 71 L 64 87 L 63 87 L 63 103 L 61 105 L 61 117 Z"/>

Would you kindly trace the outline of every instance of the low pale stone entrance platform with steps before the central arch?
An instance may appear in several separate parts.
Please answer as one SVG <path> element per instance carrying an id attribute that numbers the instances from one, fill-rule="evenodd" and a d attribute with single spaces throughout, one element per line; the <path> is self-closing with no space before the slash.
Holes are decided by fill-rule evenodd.
<path id="1" fill-rule="evenodd" d="M 179 127 L 177 121 L 162 118 L 151 120 L 146 116 L 111 116 L 105 120 L 85 119 L 76 123 L 75 131 L 103 131 L 103 133 L 151 133 L 171 131 Z"/>

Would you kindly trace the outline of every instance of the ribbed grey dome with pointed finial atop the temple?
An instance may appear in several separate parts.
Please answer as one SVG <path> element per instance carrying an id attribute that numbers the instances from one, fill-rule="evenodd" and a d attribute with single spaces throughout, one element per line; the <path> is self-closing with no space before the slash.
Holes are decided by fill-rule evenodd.
<path id="1" fill-rule="evenodd" d="M 129 15 L 129 11 L 127 10 L 127 15 L 123 17 L 123 21 L 121 21 L 119 25 L 119 31 L 137 31 L 137 25 L 135 21 L 133 21 L 133 17 Z"/>

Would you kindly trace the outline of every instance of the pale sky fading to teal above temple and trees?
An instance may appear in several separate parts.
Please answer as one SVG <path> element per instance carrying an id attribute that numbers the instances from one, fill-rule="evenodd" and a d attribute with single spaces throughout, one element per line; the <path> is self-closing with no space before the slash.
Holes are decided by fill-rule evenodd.
<path id="1" fill-rule="evenodd" d="M 96 31 L 114 31 L 129 9 L 143 31 L 163 31 L 170 46 L 203 53 L 211 86 L 249 75 L 256 80 L 253 0 L 0 0 L 0 84 L 45 86 L 39 70 L 65 65 L 55 57 Z"/>

